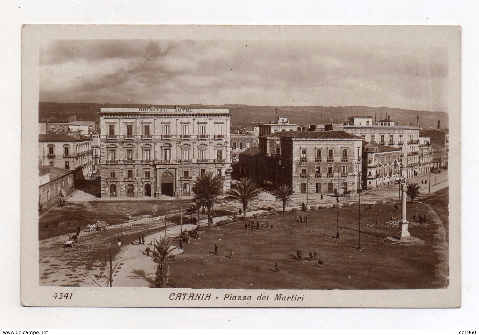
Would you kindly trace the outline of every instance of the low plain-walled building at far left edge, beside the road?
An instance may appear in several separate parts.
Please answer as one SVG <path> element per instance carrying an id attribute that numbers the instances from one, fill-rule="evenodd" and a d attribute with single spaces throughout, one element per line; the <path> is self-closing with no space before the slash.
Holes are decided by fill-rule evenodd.
<path id="1" fill-rule="evenodd" d="M 45 205 L 73 191 L 73 171 L 59 167 L 38 167 L 38 204 Z"/>

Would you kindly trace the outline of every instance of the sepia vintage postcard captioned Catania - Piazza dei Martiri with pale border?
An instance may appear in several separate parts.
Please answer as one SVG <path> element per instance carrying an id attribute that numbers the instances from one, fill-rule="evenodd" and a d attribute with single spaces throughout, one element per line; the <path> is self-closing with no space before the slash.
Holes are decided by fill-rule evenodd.
<path id="1" fill-rule="evenodd" d="M 460 27 L 22 39 L 24 305 L 460 306 Z"/>

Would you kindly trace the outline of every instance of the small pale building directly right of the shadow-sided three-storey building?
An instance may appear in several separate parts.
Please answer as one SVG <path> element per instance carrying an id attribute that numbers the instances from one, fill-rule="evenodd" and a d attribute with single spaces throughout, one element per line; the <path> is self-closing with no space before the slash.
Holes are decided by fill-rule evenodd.
<path id="1" fill-rule="evenodd" d="M 363 142 L 362 187 L 371 190 L 394 184 L 401 178 L 401 149 L 374 142 Z"/>

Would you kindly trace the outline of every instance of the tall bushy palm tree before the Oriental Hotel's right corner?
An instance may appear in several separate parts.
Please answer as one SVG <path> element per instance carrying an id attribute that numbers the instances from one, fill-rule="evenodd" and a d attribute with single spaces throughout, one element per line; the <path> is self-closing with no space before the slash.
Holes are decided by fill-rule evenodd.
<path id="1" fill-rule="evenodd" d="M 218 197 L 223 193 L 221 176 L 213 176 L 212 172 L 199 176 L 191 188 L 194 192 L 193 203 L 199 207 L 205 207 L 208 212 L 208 226 L 211 225 L 211 210 L 215 203 L 221 203 Z"/>

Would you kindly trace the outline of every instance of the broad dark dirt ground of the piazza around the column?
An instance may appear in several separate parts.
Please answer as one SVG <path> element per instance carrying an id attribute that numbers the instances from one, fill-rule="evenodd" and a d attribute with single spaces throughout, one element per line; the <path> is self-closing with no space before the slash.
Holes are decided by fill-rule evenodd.
<path id="1" fill-rule="evenodd" d="M 444 195 L 443 195 L 444 197 Z M 411 236 L 425 243 L 397 246 L 382 241 L 398 230 L 388 223 L 399 218 L 393 205 L 361 208 L 362 234 L 358 250 L 358 207 L 339 210 L 339 233 L 336 239 L 336 210 L 306 212 L 308 223 L 299 215 L 278 214 L 260 219 L 260 229 L 245 229 L 244 221 L 209 228 L 201 240 L 183 244 L 184 252 L 171 265 L 170 284 L 181 288 L 228 289 L 431 289 L 444 287 L 447 260 L 437 255 L 435 236 L 444 232 L 435 214 L 422 203 L 408 203 L 408 220 L 414 212 L 427 214 L 428 223 L 410 224 Z M 376 225 L 375 222 L 378 221 Z M 256 221 L 256 220 L 255 220 Z M 273 224 L 273 230 L 261 224 Z M 214 246 L 218 246 L 218 255 Z M 447 245 L 442 246 L 443 248 Z M 297 260 L 296 250 L 308 258 Z M 228 258 L 230 250 L 233 258 Z M 447 250 L 442 250 L 447 252 Z M 317 263 L 322 260 L 324 265 Z M 279 273 L 274 271 L 278 263 Z"/>

